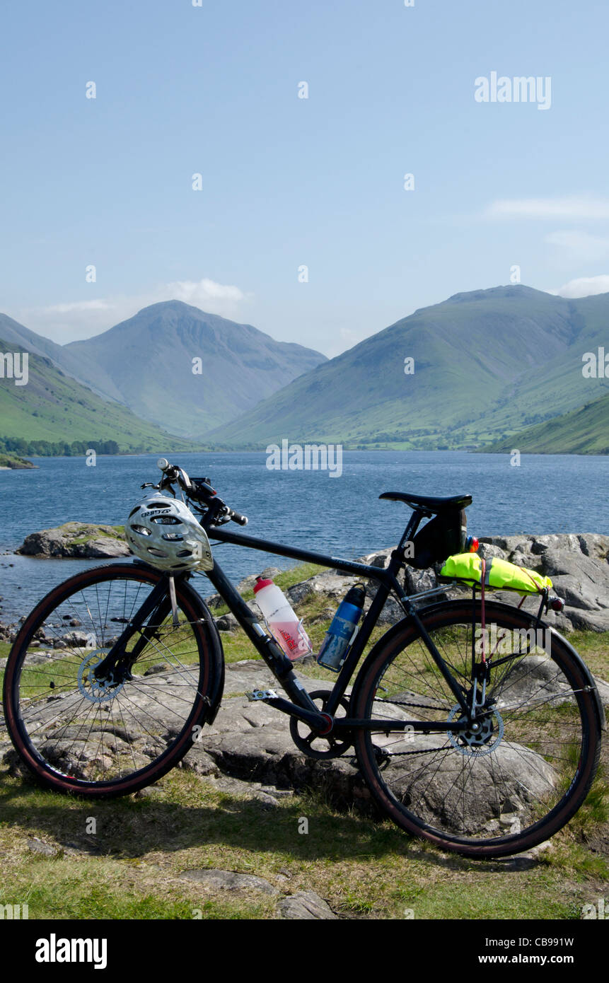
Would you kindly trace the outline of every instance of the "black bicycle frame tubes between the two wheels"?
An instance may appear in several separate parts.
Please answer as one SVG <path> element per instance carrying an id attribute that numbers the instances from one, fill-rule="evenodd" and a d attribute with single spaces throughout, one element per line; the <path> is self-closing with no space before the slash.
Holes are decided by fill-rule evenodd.
<path id="1" fill-rule="evenodd" d="M 434 645 L 433 640 L 430 638 L 425 626 L 418 617 L 416 610 L 410 603 L 409 597 L 404 593 L 397 581 L 397 573 L 404 562 L 404 546 L 416 531 L 421 518 L 425 514 L 426 513 L 423 511 L 413 511 L 406 529 L 404 530 L 403 536 L 399 541 L 399 545 L 392 551 L 389 566 L 385 569 L 376 566 L 369 566 L 366 563 L 358 563 L 354 560 L 342 559 L 336 556 L 328 556 L 324 553 L 312 552 L 309 549 L 286 547 L 280 543 L 274 543 L 270 540 L 261 540 L 253 536 L 244 536 L 242 533 L 233 532 L 232 530 L 228 530 L 223 526 L 211 525 L 207 529 L 210 537 L 221 543 L 233 543 L 235 546 L 246 547 L 248 549 L 260 549 L 263 552 L 274 553 L 277 556 L 288 556 L 290 559 L 303 560 L 305 562 L 315 563 L 320 566 L 331 567 L 336 570 L 340 570 L 343 573 L 355 574 L 365 579 L 372 578 L 379 582 L 379 587 L 374 600 L 368 610 L 368 613 L 364 617 L 360 630 L 357 633 L 336 678 L 335 686 L 331 691 L 328 704 L 325 708 L 324 713 L 326 715 L 333 716 L 335 714 L 340 698 L 344 695 L 351 676 L 355 670 L 355 666 L 358 664 L 360 657 L 370 639 L 370 635 L 377 622 L 379 614 L 381 613 L 383 607 L 385 607 L 385 603 L 390 594 L 392 591 L 394 591 L 399 604 L 401 607 L 403 607 L 405 613 L 411 618 L 412 622 L 418 629 L 421 638 L 429 649 L 429 652 L 431 653 L 435 663 L 438 665 L 438 668 L 442 672 L 447 685 L 450 687 L 458 705 L 463 711 L 464 717 L 467 718 L 467 720 L 469 719 L 469 708 L 462 689 L 460 686 L 458 686 L 455 678 L 451 674 L 449 666 L 445 663 L 438 649 Z M 205 527 L 205 520 L 202 525 Z M 271 706 L 274 706 L 277 710 L 281 710 L 284 713 L 288 713 L 291 716 L 303 720 L 305 723 L 311 723 L 318 728 L 327 726 L 328 717 L 323 716 L 320 713 L 319 709 L 309 697 L 306 689 L 297 679 L 293 671 L 293 663 L 287 659 L 282 649 L 274 641 L 274 638 L 272 638 L 269 635 L 269 632 L 263 628 L 254 612 L 250 607 L 248 607 L 245 601 L 243 601 L 240 594 L 230 580 L 228 580 L 217 562 L 214 561 L 213 569 L 207 571 L 207 577 L 212 582 L 220 597 L 226 602 L 226 605 L 232 611 L 237 621 L 245 631 L 247 637 L 260 653 L 265 663 L 272 670 L 275 678 L 290 697 L 290 700 L 293 701 L 290 703 L 281 697 L 268 697 L 265 702 L 269 703 Z M 351 718 L 336 718 L 334 722 L 335 729 L 366 727 L 367 729 L 371 730 L 389 731 L 403 730 L 408 726 L 412 726 L 414 729 L 422 732 L 443 730 L 458 731 L 465 729 L 467 723 L 363 721 L 354 720 Z"/>

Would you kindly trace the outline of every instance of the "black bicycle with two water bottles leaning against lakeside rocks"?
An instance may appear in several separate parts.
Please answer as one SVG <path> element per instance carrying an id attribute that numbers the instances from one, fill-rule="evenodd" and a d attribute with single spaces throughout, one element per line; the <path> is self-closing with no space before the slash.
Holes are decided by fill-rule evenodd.
<path id="1" fill-rule="evenodd" d="M 605 719 L 589 670 L 542 620 L 558 599 L 544 590 L 535 615 L 486 601 L 475 589 L 448 601 L 437 600 L 443 587 L 408 596 L 397 579 L 413 563 L 413 537 L 429 529 L 427 522 L 417 534 L 422 520 L 450 526 L 470 495 L 382 494 L 412 509 L 383 569 L 228 530 L 228 522 L 247 518 L 210 479 L 158 464 L 160 482 L 142 488 L 173 495 L 177 488 L 216 544 L 313 562 L 376 585 L 335 685 L 309 692 L 217 561 L 207 571 L 285 693 L 248 697 L 289 716 L 301 751 L 331 759 L 354 748 L 382 813 L 407 833 L 469 857 L 528 849 L 574 816 L 597 769 Z M 220 704 L 224 661 L 191 579 L 191 572 L 159 572 L 140 559 L 119 561 L 71 577 L 34 607 L 7 661 L 4 704 L 13 744 L 38 780 L 90 798 L 127 794 L 160 779 L 201 739 Z M 404 617 L 372 646 L 347 692 L 391 594 Z M 485 658 L 478 636 L 489 623 L 501 645 Z M 66 627 L 75 630 L 66 634 Z M 49 629 L 54 648 L 40 653 Z M 539 629 L 550 638 L 545 649 L 536 647 Z"/>

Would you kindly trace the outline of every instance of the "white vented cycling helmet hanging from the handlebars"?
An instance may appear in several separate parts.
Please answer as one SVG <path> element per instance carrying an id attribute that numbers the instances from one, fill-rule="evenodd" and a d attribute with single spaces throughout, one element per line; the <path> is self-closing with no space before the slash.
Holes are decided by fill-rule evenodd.
<path id="1" fill-rule="evenodd" d="M 211 570 L 212 549 L 188 505 L 152 494 L 131 510 L 125 523 L 129 548 L 157 570 Z"/>

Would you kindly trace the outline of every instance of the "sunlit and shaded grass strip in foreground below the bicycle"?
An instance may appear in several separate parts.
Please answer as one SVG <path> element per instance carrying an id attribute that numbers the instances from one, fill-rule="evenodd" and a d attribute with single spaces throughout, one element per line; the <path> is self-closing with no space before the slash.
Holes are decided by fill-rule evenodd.
<path id="1" fill-rule="evenodd" d="M 515 870 L 470 862 L 407 838 L 390 823 L 335 812 L 320 796 L 264 803 L 217 791 L 175 770 L 153 796 L 82 803 L 3 774 L 0 903 L 31 918 L 273 918 L 276 898 L 214 892 L 189 869 L 256 874 L 282 894 L 315 891 L 337 914 L 365 919 L 579 917 L 604 896 L 606 868 L 560 834 L 553 862 Z M 309 833 L 298 835 L 306 816 Z M 91 817 L 96 833 L 87 834 Z M 38 837 L 56 847 L 32 852 Z M 604 893 L 604 894 L 603 894 Z"/>

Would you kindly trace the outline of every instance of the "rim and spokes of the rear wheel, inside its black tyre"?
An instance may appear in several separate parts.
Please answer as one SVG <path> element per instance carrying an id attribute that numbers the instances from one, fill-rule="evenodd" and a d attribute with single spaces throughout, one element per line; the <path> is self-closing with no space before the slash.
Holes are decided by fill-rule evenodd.
<path id="1" fill-rule="evenodd" d="M 553 822 L 560 828 L 569 818 L 588 758 L 589 694 L 560 653 L 552 658 L 552 634 L 533 636 L 545 647 L 531 648 L 531 636 L 523 643 L 515 629 L 532 623 L 497 611 L 493 617 L 494 658 L 508 659 L 491 669 L 485 697 L 495 702 L 480 718 L 486 734 L 477 741 L 456 731 L 359 736 L 370 786 L 384 807 L 411 832 L 447 844 L 483 847 L 527 837 L 540 841 L 542 830 L 551 835 Z M 470 619 L 457 623 L 455 612 L 447 612 L 426 627 L 457 681 L 470 690 Z M 405 647 L 403 639 L 401 646 L 396 642 L 391 662 L 380 656 L 376 673 L 371 666 L 364 715 L 457 721 L 455 695 L 422 641 L 410 637 Z"/>

